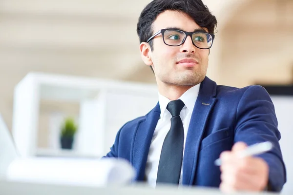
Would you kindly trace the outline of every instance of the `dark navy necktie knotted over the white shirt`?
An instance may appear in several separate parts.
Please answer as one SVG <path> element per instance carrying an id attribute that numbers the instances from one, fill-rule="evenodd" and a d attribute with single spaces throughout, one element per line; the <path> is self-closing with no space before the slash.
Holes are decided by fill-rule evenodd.
<path id="1" fill-rule="evenodd" d="M 167 105 L 172 115 L 171 128 L 163 143 L 157 183 L 179 183 L 184 143 L 184 129 L 179 115 L 183 107 L 184 103 L 180 99 L 170 101 Z"/>

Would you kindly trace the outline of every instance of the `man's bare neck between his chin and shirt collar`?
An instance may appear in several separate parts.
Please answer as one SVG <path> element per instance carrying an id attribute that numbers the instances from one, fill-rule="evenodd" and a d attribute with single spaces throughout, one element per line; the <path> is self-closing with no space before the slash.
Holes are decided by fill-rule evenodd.
<path id="1" fill-rule="evenodd" d="M 182 96 L 188 89 L 193 87 L 194 85 L 190 86 L 181 86 L 181 85 L 171 85 L 166 83 L 158 84 L 158 90 L 162 96 L 172 100 L 176 100 Z"/>

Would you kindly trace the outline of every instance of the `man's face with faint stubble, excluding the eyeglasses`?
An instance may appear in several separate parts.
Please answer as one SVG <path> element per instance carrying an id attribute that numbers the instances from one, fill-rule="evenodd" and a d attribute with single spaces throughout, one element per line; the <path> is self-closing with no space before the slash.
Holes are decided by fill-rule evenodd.
<path id="1" fill-rule="evenodd" d="M 169 10 L 161 13 L 154 21 L 153 33 L 166 28 L 178 28 L 187 32 L 203 29 L 187 14 Z M 168 85 L 193 86 L 206 76 L 209 50 L 195 47 L 190 36 L 180 46 L 168 46 L 164 43 L 162 34 L 159 34 L 153 39 L 153 51 L 149 49 L 147 54 L 149 60 L 144 61 L 152 66 L 158 84 L 163 82 Z M 184 59 L 194 62 L 184 63 Z"/>

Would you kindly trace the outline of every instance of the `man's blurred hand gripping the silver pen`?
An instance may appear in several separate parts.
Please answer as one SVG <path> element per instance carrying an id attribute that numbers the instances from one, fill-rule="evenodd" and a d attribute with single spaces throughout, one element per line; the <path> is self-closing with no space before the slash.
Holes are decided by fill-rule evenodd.
<path id="1" fill-rule="evenodd" d="M 265 189 L 269 179 L 269 166 L 265 160 L 259 157 L 237 156 L 247 145 L 237 142 L 231 151 L 221 154 L 221 184 L 223 192 L 254 191 Z"/>

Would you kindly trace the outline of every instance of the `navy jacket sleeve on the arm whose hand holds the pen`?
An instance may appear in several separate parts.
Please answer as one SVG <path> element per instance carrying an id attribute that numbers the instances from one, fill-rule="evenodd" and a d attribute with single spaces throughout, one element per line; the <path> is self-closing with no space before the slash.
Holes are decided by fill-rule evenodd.
<path id="1" fill-rule="evenodd" d="M 243 141 L 248 145 L 272 142 L 273 149 L 259 157 L 269 165 L 269 190 L 280 192 L 286 182 L 286 169 L 274 105 L 267 91 L 258 85 L 248 87 L 239 101 L 235 117 L 234 142 Z"/>

